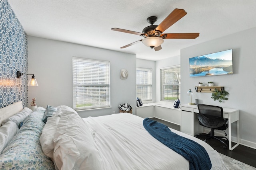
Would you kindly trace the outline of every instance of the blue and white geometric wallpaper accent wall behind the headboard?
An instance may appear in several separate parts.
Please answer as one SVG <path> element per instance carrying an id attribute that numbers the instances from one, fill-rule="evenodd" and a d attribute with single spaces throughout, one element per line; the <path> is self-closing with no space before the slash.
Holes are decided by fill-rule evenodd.
<path id="1" fill-rule="evenodd" d="M 0 0 L 0 108 L 22 101 L 28 104 L 27 34 L 7 0 Z"/>

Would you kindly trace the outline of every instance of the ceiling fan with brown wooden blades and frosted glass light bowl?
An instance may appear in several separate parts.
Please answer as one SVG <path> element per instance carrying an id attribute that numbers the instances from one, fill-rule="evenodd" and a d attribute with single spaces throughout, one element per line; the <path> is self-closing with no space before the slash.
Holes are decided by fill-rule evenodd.
<path id="1" fill-rule="evenodd" d="M 120 28 L 112 28 L 111 30 L 120 31 L 124 33 L 131 33 L 144 37 L 144 39 L 120 47 L 120 49 L 130 47 L 131 45 L 134 45 L 142 41 L 144 45 L 150 47 L 151 49 L 154 48 L 155 51 L 158 51 L 162 49 L 161 44 L 164 42 L 164 39 L 195 39 L 199 36 L 199 33 L 163 33 L 166 29 L 168 29 L 170 26 L 172 26 L 186 14 L 187 13 L 185 10 L 176 8 L 159 25 L 153 25 L 157 21 L 157 17 L 151 16 L 147 19 L 148 23 L 150 23 L 151 25 L 145 27 L 142 30 L 142 33 Z"/>

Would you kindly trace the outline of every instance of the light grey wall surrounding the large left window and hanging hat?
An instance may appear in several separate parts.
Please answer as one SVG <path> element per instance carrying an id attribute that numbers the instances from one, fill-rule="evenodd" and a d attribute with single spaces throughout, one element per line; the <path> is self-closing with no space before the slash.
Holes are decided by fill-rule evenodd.
<path id="1" fill-rule="evenodd" d="M 32 36 L 28 36 L 28 72 L 39 86 L 28 87 L 29 102 L 36 98 L 37 106 L 73 107 L 72 57 L 110 61 L 111 108 L 78 111 L 81 117 L 118 113 L 124 103 L 135 113 L 136 55 Z M 128 70 L 126 80 L 120 79 L 122 68 Z"/>

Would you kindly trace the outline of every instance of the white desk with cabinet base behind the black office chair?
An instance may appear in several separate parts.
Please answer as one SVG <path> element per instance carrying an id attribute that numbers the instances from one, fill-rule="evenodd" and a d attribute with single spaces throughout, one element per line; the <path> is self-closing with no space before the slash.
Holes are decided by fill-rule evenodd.
<path id="1" fill-rule="evenodd" d="M 223 108 L 223 117 L 228 118 L 228 147 L 229 150 L 233 150 L 240 144 L 239 134 L 239 110 Z M 181 126 L 180 131 L 188 135 L 196 135 L 197 133 L 203 133 L 204 127 L 199 125 L 197 114 L 199 113 L 197 105 L 181 105 Z M 236 123 L 237 126 L 237 143 L 232 147 L 231 145 L 231 123 Z"/>

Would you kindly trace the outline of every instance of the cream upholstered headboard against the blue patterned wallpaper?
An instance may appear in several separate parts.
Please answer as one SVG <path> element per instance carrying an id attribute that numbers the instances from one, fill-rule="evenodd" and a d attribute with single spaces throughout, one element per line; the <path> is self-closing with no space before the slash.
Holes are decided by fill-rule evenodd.
<path id="1" fill-rule="evenodd" d="M 8 105 L 0 109 L 0 127 L 2 126 L 2 122 L 8 117 L 18 113 L 23 109 L 22 101 L 16 102 L 14 104 Z"/>

